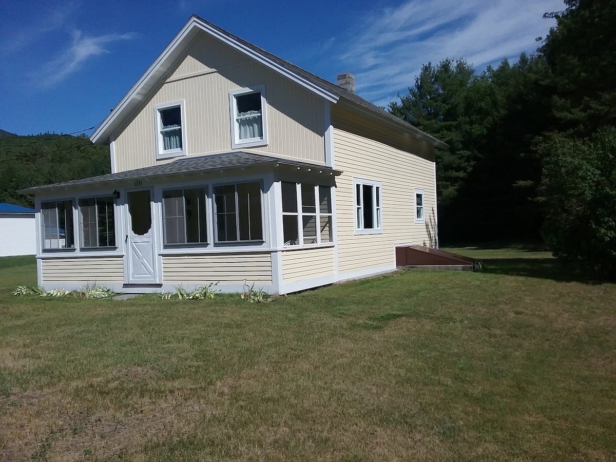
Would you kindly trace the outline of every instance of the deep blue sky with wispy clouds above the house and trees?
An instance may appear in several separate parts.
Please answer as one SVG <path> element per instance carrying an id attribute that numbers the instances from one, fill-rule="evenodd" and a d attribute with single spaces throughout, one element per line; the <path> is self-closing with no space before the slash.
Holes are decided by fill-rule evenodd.
<path id="1" fill-rule="evenodd" d="M 0 0 L 0 129 L 70 133 L 100 123 L 192 14 L 322 78 L 352 72 L 386 106 L 424 63 L 478 71 L 534 52 L 562 0 Z M 91 130 L 86 134 L 91 134 Z"/>

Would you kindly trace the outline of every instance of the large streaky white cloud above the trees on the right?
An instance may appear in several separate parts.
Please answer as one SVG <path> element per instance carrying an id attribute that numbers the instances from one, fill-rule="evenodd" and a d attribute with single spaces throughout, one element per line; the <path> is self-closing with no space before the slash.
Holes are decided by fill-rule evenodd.
<path id="1" fill-rule="evenodd" d="M 482 71 L 503 58 L 534 52 L 553 20 L 546 11 L 562 10 L 562 0 L 407 0 L 372 12 L 354 30 L 354 45 L 341 63 L 355 74 L 357 92 L 386 106 L 415 83 L 421 66 L 463 58 Z M 340 65 L 340 64 L 339 64 Z"/>

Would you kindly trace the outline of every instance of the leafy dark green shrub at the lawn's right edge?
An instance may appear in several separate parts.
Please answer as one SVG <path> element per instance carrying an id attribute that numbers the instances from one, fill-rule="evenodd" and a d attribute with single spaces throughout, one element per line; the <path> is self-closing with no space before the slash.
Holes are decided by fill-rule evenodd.
<path id="1" fill-rule="evenodd" d="M 559 259 L 615 279 L 616 128 L 585 140 L 556 135 L 540 149 L 546 155 L 546 245 Z"/>

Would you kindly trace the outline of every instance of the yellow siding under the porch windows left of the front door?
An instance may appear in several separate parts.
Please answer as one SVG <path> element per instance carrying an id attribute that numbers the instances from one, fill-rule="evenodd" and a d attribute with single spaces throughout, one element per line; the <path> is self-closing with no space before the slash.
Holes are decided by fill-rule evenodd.
<path id="1" fill-rule="evenodd" d="M 41 260 L 43 283 L 92 282 L 97 285 L 124 282 L 123 257 L 71 257 Z"/>

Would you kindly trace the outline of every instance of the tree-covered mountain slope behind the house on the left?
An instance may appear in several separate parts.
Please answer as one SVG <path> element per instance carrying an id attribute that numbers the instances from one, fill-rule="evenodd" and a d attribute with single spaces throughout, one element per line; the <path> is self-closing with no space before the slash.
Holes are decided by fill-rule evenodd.
<path id="1" fill-rule="evenodd" d="M 32 207 L 33 198 L 18 190 L 110 172 L 109 146 L 93 145 L 85 135 L 0 130 L 0 202 Z"/>

